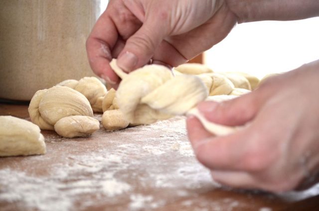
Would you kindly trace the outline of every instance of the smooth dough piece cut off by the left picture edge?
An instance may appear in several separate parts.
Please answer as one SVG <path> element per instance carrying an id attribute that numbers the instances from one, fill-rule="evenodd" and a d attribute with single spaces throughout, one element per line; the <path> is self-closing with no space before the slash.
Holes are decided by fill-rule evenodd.
<path id="1" fill-rule="evenodd" d="M 0 116 L 0 156 L 42 155 L 46 148 L 40 128 L 24 119 Z"/>

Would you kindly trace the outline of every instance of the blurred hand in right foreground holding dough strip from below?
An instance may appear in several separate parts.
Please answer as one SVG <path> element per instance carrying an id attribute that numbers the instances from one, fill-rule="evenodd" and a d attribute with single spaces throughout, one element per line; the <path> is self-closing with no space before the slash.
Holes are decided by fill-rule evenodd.
<path id="1" fill-rule="evenodd" d="M 309 187 L 319 173 L 319 60 L 263 83 L 229 102 L 203 102 L 200 112 L 224 125 L 244 125 L 214 137 L 187 119 L 197 159 L 226 186 L 284 192 Z"/>

